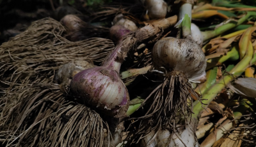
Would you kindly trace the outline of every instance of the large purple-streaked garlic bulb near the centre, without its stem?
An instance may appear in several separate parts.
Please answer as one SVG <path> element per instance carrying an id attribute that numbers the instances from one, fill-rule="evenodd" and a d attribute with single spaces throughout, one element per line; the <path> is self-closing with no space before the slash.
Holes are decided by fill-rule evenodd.
<path id="1" fill-rule="evenodd" d="M 104 66 L 76 74 L 70 92 L 75 101 L 95 106 L 109 116 L 124 116 L 129 107 L 129 93 L 119 74 Z"/>

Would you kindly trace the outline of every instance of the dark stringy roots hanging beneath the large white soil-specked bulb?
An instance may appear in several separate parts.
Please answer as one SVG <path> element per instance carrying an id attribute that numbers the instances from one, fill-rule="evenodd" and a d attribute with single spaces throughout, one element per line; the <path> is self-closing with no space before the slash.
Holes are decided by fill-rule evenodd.
<path id="1" fill-rule="evenodd" d="M 150 103 L 150 107 L 146 108 L 147 113 L 140 118 L 131 118 L 138 122 L 132 124 L 132 126 L 138 126 L 134 132 L 131 132 L 132 142 L 140 141 L 150 132 L 157 132 L 161 129 L 177 132 L 180 128 L 186 127 L 189 123 L 186 120 L 189 120 L 193 113 L 191 95 L 199 99 L 184 74 L 176 71 L 166 74 L 163 83 L 156 87 L 143 102 Z"/>

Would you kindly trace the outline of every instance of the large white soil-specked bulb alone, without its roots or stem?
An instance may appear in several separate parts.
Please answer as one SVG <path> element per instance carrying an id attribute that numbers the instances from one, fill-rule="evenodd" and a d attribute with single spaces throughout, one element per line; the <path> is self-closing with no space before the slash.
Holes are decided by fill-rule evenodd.
<path id="1" fill-rule="evenodd" d="M 155 67 L 164 67 L 167 72 L 180 71 L 189 81 L 206 80 L 204 52 L 192 39 L 163 38 L 154 45 L 152 59 Z"/>

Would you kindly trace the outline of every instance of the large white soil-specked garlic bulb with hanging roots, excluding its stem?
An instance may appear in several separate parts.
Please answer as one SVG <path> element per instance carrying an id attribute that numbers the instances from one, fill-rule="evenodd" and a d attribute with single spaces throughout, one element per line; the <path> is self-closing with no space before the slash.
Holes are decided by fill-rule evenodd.
<path id="1" fill-rule="evenodd" d="M 193 101 L 191 95 L 200 100 L 189 81 L 201 83 L 206 80 L 206 59 L 200 46 L 192 39 L 169 37 L 154 45 L 152 60 L 156 68 L 164 67 L 166 75 L 163 83 L 152 92 L 155 94 L 154 100 L 147 114 L 152 115 L 152 118 L 161 116 L 151 124 L 152 127 L 166 127 L 175 120 L 177 114 L 185 118 L 191 115 L 191 106 L 187 101 Z"/>

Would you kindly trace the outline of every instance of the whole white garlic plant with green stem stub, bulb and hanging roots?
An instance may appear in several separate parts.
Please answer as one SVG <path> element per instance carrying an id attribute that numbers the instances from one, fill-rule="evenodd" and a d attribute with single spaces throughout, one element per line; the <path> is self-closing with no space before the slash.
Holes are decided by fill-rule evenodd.
<path id="1" fill-rule="evenodd" d="M 154 66 L 158 70 L 163 69 L 165 74 L 163 83 L 141 104 L 143 106 L 148 103 L 150 106 L 147 107 L 145 116 L 137 118 L 140 125 L 135 130 L 134 139 L 139 136 L 141 139 L 151 132 L 156 132 L 154 136 L 157 136 L 159 130 L 166 129 L 173 136 L 177 135 L 177 129 L 182 128 L 180 132 L 185 132 L 185 135 L 185 128 L 191 125 L 193 97 L 202 101 L 190 82 L 202 83 L 206 80 L 205 55 L 200 46 L 191 39 L 188 15 L 185 15 L 181 25 L 184 39 L 163 38 L 152 49 Z M 195 134 L 194 130 L 191 133 Z M 180 138 L 182 134 L 177 139 L 184 139 Z"/>

